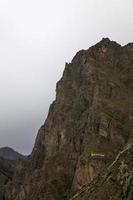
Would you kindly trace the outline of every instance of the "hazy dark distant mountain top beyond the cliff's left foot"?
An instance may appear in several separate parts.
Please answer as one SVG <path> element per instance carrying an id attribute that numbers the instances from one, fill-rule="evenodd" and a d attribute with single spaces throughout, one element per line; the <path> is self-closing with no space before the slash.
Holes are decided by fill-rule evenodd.
<path id="1" fill-rule="evenodd" d="M 18 160 L 18 159 L 25 159 L 26 156 L 14 151 L 10 147 L 2 147 L 0 148 L 0 157 L 5 158 L 7 160 Z"/>

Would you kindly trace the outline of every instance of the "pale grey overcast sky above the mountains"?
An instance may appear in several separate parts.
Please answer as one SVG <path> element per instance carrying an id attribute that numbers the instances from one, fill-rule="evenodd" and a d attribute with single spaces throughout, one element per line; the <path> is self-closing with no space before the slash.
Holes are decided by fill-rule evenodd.
<path id="1" fill-rule="evenodd" d="M 65 62 L 133 41 L 133 0 L 0 0 L 0 146 L 30 153 Z"/>

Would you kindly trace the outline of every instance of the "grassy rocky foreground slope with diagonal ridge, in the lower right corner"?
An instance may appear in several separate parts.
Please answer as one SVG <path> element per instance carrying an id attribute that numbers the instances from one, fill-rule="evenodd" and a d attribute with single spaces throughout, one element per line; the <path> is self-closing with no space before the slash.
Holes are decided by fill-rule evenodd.
<path id="1" fill-rule="evenodd" d="M 106 173 L 86 185 L 71 200 L 132 200 L 133 139 L 118 154 Z"/>

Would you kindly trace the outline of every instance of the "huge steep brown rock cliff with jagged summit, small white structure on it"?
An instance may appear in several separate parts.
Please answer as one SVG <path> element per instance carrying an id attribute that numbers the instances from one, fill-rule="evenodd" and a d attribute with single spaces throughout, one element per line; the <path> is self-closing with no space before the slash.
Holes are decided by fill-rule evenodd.
<path id="1" fill-rule="evenodd" d="M 133 135 L 133 44 L 105 38 L 78 52 L 56 90 L 6 200 L 67 200 L 113 162 Z"/>

